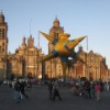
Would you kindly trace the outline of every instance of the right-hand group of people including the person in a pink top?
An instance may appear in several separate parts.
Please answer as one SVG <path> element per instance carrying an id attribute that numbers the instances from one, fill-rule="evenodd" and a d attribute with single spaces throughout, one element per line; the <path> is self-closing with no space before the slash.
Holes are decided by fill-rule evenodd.
<path id="1" fill-rule="evenodd" d="M 101 100 L 101 92 L 110 90 L 110 82 L 98 81 L 76 81 L 74 82 L 70 94 L 74 96 L 82 96 L 85 98 L 91 99 L 96 97 L 97 101 Z"/>

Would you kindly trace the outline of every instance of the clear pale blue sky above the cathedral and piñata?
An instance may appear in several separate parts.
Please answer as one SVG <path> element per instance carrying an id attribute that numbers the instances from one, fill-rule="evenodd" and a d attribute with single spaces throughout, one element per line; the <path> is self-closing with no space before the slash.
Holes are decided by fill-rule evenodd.
<path id="1" fill-rule="evenodd" d="M 34 37 L 37 47 L 38 31 L 50 32 L 55 18 L 70 40 L 88 36 L 80 45 L 106 57 L 110 68 L 110 0 L 0 0 L 0 10 L 8 22 L 8 51 L 14 53 L 22 37 Z M 40 35 L 40 46 L 47 54 L 47 41 Z M 77 47 L 76 47 L 77 51 Z"/>

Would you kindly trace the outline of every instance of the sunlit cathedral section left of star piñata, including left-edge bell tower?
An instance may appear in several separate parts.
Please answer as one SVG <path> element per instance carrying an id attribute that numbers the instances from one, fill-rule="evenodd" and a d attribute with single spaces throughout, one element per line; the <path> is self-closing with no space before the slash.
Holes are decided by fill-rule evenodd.
<path id="1" fill-rule="evenodd" d="M 0 77 L 42 77 L 42 48 L 34 46 L 34 38 L 23 37 L 15 53 L 8 53 L 8 23 L 0 13 Z"/>

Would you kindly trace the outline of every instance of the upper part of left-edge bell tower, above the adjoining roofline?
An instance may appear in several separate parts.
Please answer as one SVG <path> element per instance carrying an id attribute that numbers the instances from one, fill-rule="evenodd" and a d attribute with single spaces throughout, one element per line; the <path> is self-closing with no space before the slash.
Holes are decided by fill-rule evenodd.
<path id="1" fill-rule="evenodd" d="M 8 24 L 4 15 L 0 12 L 0 56 L 6 56 L 8 52 Z"/>

